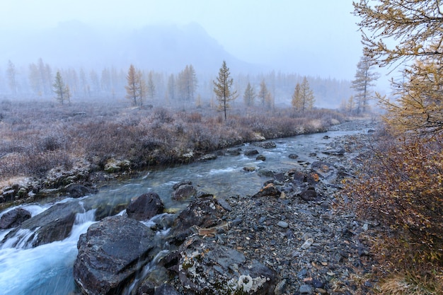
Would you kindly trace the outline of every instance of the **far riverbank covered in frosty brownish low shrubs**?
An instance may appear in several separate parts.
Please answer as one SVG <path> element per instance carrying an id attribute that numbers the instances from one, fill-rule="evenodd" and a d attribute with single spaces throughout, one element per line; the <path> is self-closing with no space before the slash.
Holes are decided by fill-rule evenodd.
<path id="1" fill-rule="evenodd" d="M 80 197 L 139 171 L 198 161 L 245 142 L 323 132 L 345 121 L 330 110 L 127 108 L 123 104 L 3 102 L 0 209 L 44 197 Z"/>

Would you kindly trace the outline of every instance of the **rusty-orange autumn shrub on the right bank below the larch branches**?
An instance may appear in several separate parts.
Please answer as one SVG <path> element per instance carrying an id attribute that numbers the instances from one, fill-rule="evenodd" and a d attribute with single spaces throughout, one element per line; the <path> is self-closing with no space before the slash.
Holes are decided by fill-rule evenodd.
<path id="1" fill-rule="evenodd" d="M 379 138 L 345 195 L 362 219 L 386 228 L 374 253 L 393 270 L 400 264 L 443 267 L 442 138 Z"/>

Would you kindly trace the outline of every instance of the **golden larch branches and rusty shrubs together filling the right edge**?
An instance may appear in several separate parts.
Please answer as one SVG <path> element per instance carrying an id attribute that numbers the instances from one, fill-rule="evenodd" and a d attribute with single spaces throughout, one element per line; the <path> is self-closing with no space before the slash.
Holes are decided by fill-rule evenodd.
<path id="1" fill-rule="evenodd" d="M 400 70 L 376 96 L 385 128 L 346 193 L 373 239 L 381 294 L 443 294 L 443 12 L 440 1 L 354 2 L 365 57 Z M 362 101 L 364 106 L 364 101 Z"/>

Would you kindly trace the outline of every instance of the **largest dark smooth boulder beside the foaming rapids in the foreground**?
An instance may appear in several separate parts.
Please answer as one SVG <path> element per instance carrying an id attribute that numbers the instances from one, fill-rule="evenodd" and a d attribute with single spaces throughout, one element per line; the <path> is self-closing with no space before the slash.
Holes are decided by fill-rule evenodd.
<path id="1" fill-rule="evenodd" d="M 121 294 L 149 260 L 156 233 L 125 216 L 110 216 L 89 226 L 77 243 L 74 280 L 83 294 Z"/>

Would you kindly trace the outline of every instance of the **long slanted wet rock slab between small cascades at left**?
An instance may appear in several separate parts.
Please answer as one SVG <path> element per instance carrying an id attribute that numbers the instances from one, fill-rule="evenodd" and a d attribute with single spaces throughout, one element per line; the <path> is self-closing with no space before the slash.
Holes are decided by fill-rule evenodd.
<path id="1" fill-rule="evenodd" d="M 17 243 L 19 241 L 31 243 L 33 247 L 54 241 L 62 241 L 71 233 L 76 214 L 83 212 L 84 208 L 77 202 L 54 204 L 54 206 L 44 212 L 23 221 L 21 226 L 13 229 L 6 235 L 4 241 L 16 236 L 16 234 L 18 235 L 16 236 Z M 21 229 L 28 230 L 28 232 L 35 231 L 35 233 L 25 238 L 25 236 L 21 235 L 21 233 L 23 233 Z M 26 241 L 23 241 L 23 238 L 25 238 Z"/>

